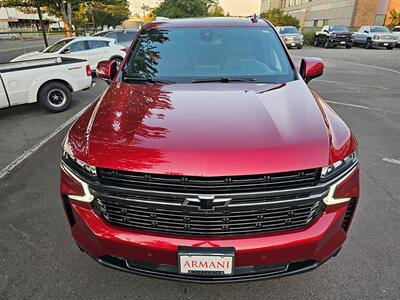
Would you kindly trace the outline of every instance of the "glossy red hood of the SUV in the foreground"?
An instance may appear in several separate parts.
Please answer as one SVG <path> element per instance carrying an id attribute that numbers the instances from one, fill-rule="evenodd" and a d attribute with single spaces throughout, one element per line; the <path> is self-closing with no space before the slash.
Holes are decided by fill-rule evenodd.
<path id="1" fill-rule="evenodd" d="M 324 115 L 302 80 L 113 82 L 66 142 L 93 166 L 194 176 L 321 167 L 330 147 Z"/>

